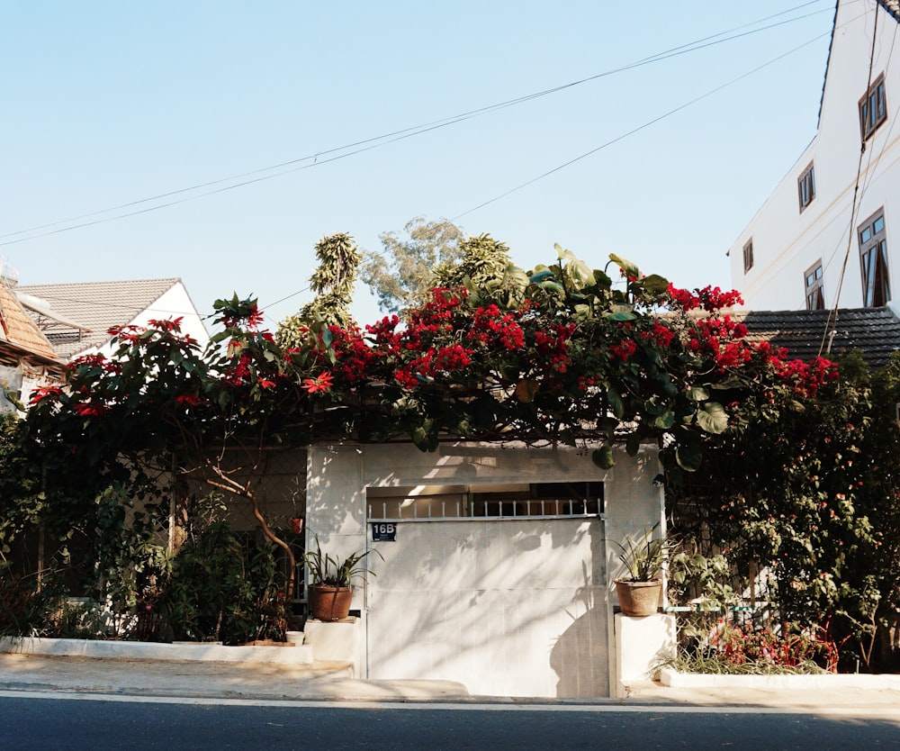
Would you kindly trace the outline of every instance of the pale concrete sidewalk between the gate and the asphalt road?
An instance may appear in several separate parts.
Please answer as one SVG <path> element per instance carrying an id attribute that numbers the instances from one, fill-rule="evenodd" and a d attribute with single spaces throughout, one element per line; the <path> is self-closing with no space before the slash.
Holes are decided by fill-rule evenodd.
<path id="1" fill-rule="evenodd" d="M 859 676 L 862 679 L 875 676 Z M 662 710 L 759 708 L 843 712 L 900 719 L 900 691 L 842 683 L 797 691 L 785 687 L 664 686 L 633 683 L 625 699 L 527 699 L 472 696 L 452 681 L 370 681 L 347 663 L 166 661 L 135 658 L 0 654 L 0 691 L 99 693 L 199 699 L 466 702 L 511 705 L 596 705 Z"/>

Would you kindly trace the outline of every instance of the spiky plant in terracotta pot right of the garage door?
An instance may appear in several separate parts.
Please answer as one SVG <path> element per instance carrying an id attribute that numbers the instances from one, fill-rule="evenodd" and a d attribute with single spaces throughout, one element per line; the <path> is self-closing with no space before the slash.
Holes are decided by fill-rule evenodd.
<path id="1" fill-rule="evenodd" d="M 665 537 L 653 538 L 653 529 L 637 542 L 630 537 L 626 537 L 625 545 L 614 541 L 622 551 L 619 560 L 627 572 L 616 579 L 616 594 L 623 615 L 653 615 L 660 607 L 662 566 L 669 555 L 671 542 Z"/>

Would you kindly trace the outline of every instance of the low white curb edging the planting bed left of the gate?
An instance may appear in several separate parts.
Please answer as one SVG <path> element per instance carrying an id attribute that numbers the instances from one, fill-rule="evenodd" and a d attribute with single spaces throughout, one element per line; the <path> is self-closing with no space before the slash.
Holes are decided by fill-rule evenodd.
<path id="1" fill-rule="evenodd" d="M 146 641 L 103 641 L 76 638 L 0 638 L 0 652 L 68 657 L 199 660 L 202 662 L 255 662 L 308 665 L 312 648 L 223 647 L 220 644 L 156 644 Z"/>

